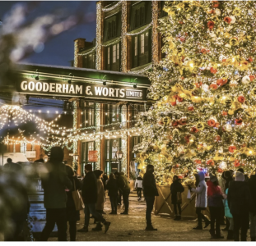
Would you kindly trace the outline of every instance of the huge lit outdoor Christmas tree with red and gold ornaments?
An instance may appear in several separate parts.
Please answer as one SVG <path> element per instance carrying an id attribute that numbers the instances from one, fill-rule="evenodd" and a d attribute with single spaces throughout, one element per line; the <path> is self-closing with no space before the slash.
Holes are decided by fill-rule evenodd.
<path id="1" fill-rule="evenodd" d="M 256 2 L 165 2 L 137 159 L 168 173 L 256 166 Z M 146 164 L 147 164 L 146 163 Z"/>

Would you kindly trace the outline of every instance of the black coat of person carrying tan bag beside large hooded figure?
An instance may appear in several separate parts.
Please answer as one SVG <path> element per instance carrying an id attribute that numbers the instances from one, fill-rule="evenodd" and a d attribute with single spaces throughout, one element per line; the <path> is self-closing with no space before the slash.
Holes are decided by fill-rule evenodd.
<path id="1" fill-rule="evenodd" d="M 68 177 L 72 182 L 73 188 L 67 191 L 67 221 L 80 221 L 80 213 L 76 210 L 74 199 L 72 197 L 72 191 L 76 185 L 76 190 L 81 189 L 81 182 L 77 179 L 77 176 Z"/>

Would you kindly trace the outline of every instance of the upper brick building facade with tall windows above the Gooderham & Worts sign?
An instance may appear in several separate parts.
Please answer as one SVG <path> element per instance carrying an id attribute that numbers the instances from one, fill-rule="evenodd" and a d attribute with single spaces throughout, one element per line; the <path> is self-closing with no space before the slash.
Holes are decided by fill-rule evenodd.
<path id="1" fill-rule="evenodd" d="M 75 40 L 74 66 L 141 74 L 159 62 L 164 1 L 99 1 L 96 37 Z"/>

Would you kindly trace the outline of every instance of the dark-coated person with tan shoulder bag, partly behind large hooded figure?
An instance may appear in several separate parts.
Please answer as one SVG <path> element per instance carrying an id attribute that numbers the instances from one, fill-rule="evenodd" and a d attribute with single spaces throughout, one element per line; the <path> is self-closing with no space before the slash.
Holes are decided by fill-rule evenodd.
<path id="1" fill-rule="evenodd" d="M 76 241 L 77 235 L 77 221 L 80 221 L 80 212 L 77 211 L 74 199 L 72 197 L 72 191 L 81 189 L 81 182 L 77 179 L 72 166 L 66 165 L 66 172 L 68 179 L 72 182 L 72 189 L 67 191 L 67 222 L 69 224 L 69 236 L 70 241 Z"/>

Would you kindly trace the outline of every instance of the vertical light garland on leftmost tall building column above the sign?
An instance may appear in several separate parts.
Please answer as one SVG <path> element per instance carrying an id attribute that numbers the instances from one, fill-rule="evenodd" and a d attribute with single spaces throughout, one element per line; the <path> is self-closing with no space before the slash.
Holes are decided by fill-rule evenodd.
<path id="1" fill-rule="evenodd" d="M 101 2 L 96 5 L 96 70 L 101 69 Z"/>

